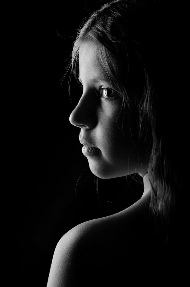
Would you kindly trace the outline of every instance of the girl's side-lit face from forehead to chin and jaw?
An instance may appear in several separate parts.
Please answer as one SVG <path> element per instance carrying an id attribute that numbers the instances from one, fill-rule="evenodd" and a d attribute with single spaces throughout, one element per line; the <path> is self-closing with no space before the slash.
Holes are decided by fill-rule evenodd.
<path id="1" fill-rule="evenodd" d="M 114 83 L 106 80 L 96 44 L 85 43 L 79 49 L 79 80 L 83 94 L 69 120 L 80 128 L 91 171 L 99 178 L 115 178 L 138 172 L 146 173 L 146 161 L 134 148 L 137 123 L 124 111 L 122 97 Z M 130 121 L 129 121 L 130 119 Z"/>

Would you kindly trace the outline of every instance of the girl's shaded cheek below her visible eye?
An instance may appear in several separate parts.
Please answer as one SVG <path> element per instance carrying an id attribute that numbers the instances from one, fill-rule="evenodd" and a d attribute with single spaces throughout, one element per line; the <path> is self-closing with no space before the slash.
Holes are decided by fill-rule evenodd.
<path id="1" fill-rule="evenodd" d="M 99 114 L 99 139 L 102 149 L 111 156 L 128 155 L 135 152 L 139 143 L 137 120 L 129 114 L 128 107 L 110 105 Z M 137 151 L 136 151 L 137 152 Z"/>

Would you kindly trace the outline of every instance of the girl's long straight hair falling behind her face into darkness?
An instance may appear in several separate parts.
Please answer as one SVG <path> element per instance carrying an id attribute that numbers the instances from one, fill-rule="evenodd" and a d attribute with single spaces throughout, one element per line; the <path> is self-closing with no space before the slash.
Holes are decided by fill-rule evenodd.
<path id="1" fill-rule="evenodd" d="M 170 222 L 181 208 L 183 194 L 182 126 L 176 116 L 179 102 L 173 83 L 177 34 L 173 39 L 173 22 L 167 22 L 169 12 L 164 8 L 154 0 L 104 4 L 79 30 L 71 66 L 77 77 L 79 48 L 96 42 L 105 75 L 118 87 L 123 104 L 137 116 L 153 187 L 150 209 L 155 218 Z"/>

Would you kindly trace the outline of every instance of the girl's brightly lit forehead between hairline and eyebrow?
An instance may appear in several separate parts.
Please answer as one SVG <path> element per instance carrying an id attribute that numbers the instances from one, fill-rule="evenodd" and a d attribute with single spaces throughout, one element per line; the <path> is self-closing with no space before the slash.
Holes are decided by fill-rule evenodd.
<path id="1" fill-rule="evenodd" d="M 86 42 L 79 48 L 80 77 L 105 78 L 101 61 L 98 56 L 98 44 Z"/>

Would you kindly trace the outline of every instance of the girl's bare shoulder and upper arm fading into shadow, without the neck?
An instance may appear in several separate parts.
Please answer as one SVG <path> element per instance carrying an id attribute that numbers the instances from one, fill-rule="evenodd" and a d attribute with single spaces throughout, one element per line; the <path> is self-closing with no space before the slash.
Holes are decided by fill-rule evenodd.
<path id="1" fill-rule="evenodd" d="M 144 205 L 138 202 L 122 212 L 69 230 L 56 246 L 47 287 L 76 286 L 76 280 L 78 286 L 94 286 L 92 282 L 88 285 L 94 274 L 99 274 L 94 282 L 105 286 L 100 285 L 102 276 L 121 272 L 126 254 L 129 257 L 129 250 L 135 249 L 141 213 L 144 214 Z"/>

